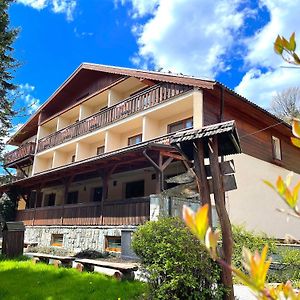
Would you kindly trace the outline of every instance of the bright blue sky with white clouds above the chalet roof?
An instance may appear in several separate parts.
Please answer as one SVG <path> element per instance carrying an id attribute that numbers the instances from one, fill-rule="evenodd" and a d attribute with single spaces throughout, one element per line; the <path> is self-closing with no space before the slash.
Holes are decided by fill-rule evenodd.
<path id="1" fill-rule="evenodd" d="M 300 0 L 16 0 L 19 106 L 38 105 L 82 62 L 215 78 L 268 108 L 297 86 L 276 35 L 300 35 Z M 297 38 L 297 35 L 296 35 Z M 18 118 L 15 124 L 24 123 Z"/>

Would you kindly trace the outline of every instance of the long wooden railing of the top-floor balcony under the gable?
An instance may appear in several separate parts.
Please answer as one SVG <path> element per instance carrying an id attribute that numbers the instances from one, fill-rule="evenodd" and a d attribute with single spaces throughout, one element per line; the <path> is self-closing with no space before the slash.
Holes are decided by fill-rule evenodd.
<path id="1" fill-rule="evenodd" d="M 154 107 L 177 95 L 190 90 L 191 87 L 179 84 L 154 85 L 124 101 L 100 111 L 75 124 L 56 131 L 38 141 L 37 152 L 44 151 L 64 142 L 75 139 L 111 123 L 125 119 L 133 114 Z"/>

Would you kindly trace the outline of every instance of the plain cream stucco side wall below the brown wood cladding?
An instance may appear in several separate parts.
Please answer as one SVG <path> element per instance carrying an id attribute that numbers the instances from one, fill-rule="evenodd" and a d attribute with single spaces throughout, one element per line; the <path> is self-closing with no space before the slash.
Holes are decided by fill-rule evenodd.
<path id="1" fill-rule="evenodd" d="M 275 183 L 277 177 L 289 173 L 286 169 L 264 162 L 246 154 L 232 157 L 236 166 L 238 189 L 227 193 L 227 208 L 233 224 L 244 224 L 248 229 L 265 232 L 277 238 L 288 233 L 300 239 L 300 220 L 287 217 L 277 209 L 288 209 L 276 193 L 263 183 Z M 300 175 L 294 175 L 294 183 Z M 292 185 L 293 186 L 293 185 Z"/>

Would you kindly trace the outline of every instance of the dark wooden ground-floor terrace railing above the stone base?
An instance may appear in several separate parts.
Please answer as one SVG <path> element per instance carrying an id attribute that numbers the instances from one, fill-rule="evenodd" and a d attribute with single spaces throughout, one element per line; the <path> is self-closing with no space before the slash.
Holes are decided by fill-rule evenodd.
<path id="1" fill-rule="evenodd" d="M 25 225 L 140 225 L 150 219 L 150 198 L 68 204 L 18 210 Z"/>

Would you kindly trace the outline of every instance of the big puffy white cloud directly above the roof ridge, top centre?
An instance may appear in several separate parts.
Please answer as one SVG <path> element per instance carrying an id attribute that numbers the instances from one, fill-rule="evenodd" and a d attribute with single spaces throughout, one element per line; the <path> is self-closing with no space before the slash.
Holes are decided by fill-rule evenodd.
<path id="1" fill-rule="evenodd" d="M 140 65 L 207 77 L 230 68 L 224 57 L 249 12 L 242 1 L 131 0 L 134 17 L 152 15 L 133 27 Z"/>

